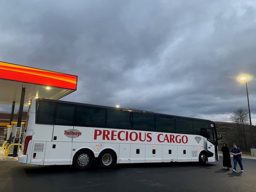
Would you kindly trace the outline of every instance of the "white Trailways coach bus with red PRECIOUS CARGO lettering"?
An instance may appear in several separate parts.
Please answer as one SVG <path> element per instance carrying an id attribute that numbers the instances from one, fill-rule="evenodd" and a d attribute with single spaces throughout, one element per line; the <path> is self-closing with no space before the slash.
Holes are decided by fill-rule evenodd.
<path id="1" fill-rule="evenodd" d="M 51 99 L 29 107 L 20 163 L 89 169 L 115 163 L 218 160 L 215 123 Z"/>

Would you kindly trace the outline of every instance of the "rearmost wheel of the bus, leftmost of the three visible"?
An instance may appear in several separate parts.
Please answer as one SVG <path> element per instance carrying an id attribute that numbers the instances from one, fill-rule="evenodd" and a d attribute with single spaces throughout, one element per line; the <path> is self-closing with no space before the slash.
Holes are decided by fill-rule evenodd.
<path id="1" fill-rule="evenodd" d="M 92 166 L 93 156 L 88 150 L 78 151 L 73 158 L 73 166 L 78 170 L 87 170 Z"/>

